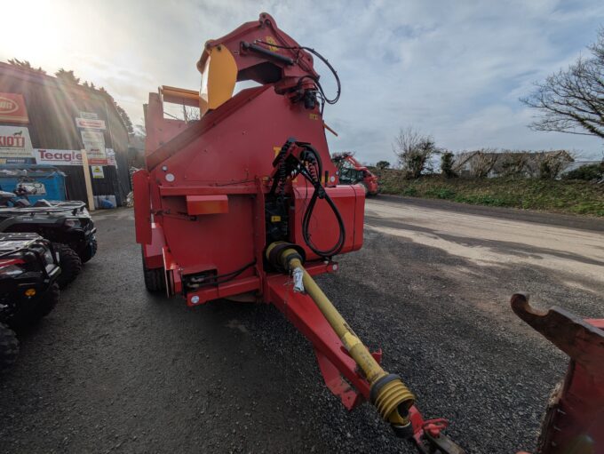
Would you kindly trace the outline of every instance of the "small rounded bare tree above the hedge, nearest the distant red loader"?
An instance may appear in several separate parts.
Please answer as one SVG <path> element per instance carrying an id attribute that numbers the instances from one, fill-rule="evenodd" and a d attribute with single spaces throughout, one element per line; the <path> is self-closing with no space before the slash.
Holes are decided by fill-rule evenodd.
<path id="1" fill-rule="evenodd" d="M 438 152 L 431 136 L 423 135 L 411 126 L 401 128 L 394 138 L 393 153 L 409 178 L 419 178 Z"/>

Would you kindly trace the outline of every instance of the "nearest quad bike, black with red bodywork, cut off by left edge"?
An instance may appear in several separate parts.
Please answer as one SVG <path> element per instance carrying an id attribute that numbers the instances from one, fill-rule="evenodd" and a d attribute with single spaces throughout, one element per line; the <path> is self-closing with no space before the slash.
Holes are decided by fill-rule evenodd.
<path id="1" fill-rule="evenodd" d="M 57 305 L 60 272 L 52 243 L 40 235 L 0 234 L 0 370 L 19 354 L 13 329 L 39 322 Z"/>

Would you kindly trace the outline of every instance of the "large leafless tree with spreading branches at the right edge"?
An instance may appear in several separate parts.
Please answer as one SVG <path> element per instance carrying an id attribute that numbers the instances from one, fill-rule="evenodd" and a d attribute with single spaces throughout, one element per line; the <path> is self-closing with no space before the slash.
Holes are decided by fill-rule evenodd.
<path id="1" fill-rule="evenodd" d="M 567 70 L 549 76 L 521 102 L 536 108 L 530 124 L 536 131 L 559 131 L 604 139 L 604 28 L 589 46 L 592 56 L 579 57 Z"/>

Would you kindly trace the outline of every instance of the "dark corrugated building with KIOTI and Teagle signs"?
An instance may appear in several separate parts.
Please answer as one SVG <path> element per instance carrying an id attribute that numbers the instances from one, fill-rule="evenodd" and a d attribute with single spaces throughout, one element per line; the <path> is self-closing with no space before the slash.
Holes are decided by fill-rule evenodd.
<path id="1" fill-rule="evenodd" d="M 25 115 L 16 115 L 20 103 Z M 3 133 L 25 149 L 8 147 L 6 139 L 2 147 Z M 0 167 L 51 163 L 68 175 L 68 198 L 86 201 L 83 149 L 95 164 L 94 195 L 115 195 L 122 204 L 131 190 L 128 131 L 107 92 L 0 62 Z"/>

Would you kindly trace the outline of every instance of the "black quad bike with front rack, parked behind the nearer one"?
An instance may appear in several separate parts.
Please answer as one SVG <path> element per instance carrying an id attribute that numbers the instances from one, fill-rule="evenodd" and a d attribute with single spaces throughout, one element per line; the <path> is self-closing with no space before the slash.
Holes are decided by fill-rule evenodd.
<path id="1" fill-rule="evenodd" d="M 38 200 L 30 205 L 25 199 L 8 202 L 9 195 L 13 194 L 0 193 L 4 201 L 0 205 L 12 204 L 0 207 L 0 232 L 31 232 L 51 241 L 60 256 L 58 283 L 64 288 L 97 252 L 97 229 L 85 203 Z"/>

